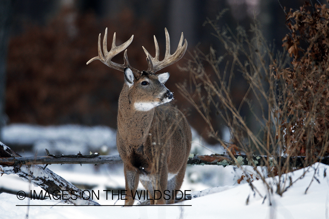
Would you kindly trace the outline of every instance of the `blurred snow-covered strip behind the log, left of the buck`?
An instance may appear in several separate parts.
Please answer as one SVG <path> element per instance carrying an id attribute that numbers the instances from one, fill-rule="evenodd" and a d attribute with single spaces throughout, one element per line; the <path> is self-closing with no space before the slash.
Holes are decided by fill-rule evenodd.
<path id="1" fill-rule="evenodd" d="M 33 145 L 35 150 L 56 148 L 65 153 L 89 154 L 89 150 L 102 146 L 115 147 L 116 132 L 106 126 L 38 126 L 10 124 L 1 130 L 2 141 L 6 144 Z M 50 153 L 52 151 L 50 150 Z M 55 153 L 55 152 L 54 152 Z"/>

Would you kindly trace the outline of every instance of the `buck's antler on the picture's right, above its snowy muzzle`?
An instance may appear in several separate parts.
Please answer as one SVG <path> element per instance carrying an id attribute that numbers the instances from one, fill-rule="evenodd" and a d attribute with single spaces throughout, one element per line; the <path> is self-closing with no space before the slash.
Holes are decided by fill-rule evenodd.
<path id="1" fill-rule="evenodd" d="M 169 34 L 166 28 L 164 28 L 165 32 L 165 55 L 164 60 L 159 61 L 159 45 L 158 41 L 154 36 L 154 44 L 155 44 L 155 57 L 152 57 L 149 52 L 143 47 L 144 52 L 146 54 L 146 60 L 148 63 L 148 70 L 147 71 L 153 71 L 153 73 L 163 69 L 164 67 L 167 67 L 175 62 L 177 62 L 179 59 L 183 57 L 185 54 L 185 51 L 187 49 L 187 41 L 185 39 L 184 45 L 183 43 L 183 32 L 181 35 L 181 39 L 179 40 L 177 50 L 174 54 L 170 55 L 170 39 Z"/>

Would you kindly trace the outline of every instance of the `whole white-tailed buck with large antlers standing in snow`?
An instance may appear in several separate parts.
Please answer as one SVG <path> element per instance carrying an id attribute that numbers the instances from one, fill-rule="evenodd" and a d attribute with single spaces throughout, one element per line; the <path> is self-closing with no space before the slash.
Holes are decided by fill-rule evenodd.
<path id="1" fill-rule="evenodd" d="M 125 205 L 133 205 L 139 180 L 148 190 L 148 197 L 152 197 L 151 204 L 170 204 L 174 202 L 173 191 L 179 190 L 183 183 L 191 148 L 191 130 L 178 109 L 162 105 L 173 100 L 173 94 L 164 86 L 169 73 L 154 73 L 182 58 L 187 41 L 185 39 L 182 45 L 182 33 L 176 52 L 170 55 L 169 34 L 165 29 L 164 60 L 159 61 L 159 46 L 154 36 L 155 57 L 143 47 L 148 69 L 138 71 L 130 66 L 125 50 L 133 37 L 134 35 L 122 45 L 115 46 L 114 33 L 112 48 L 108 52 L 106 29 L 103 39 L 104 55 L 99 34 L 98 56 L 90 59 L 87 64 L 98 59 L 107 66 L 124 72 L 125 83 L 118 103 L 116 145 L 123 160 L 127 190 Z M 123 50 L 124 64 L 112 62 L 111 59 Z M 168 190 L 165 191 L 167 195 L 164 190 Z"/>

